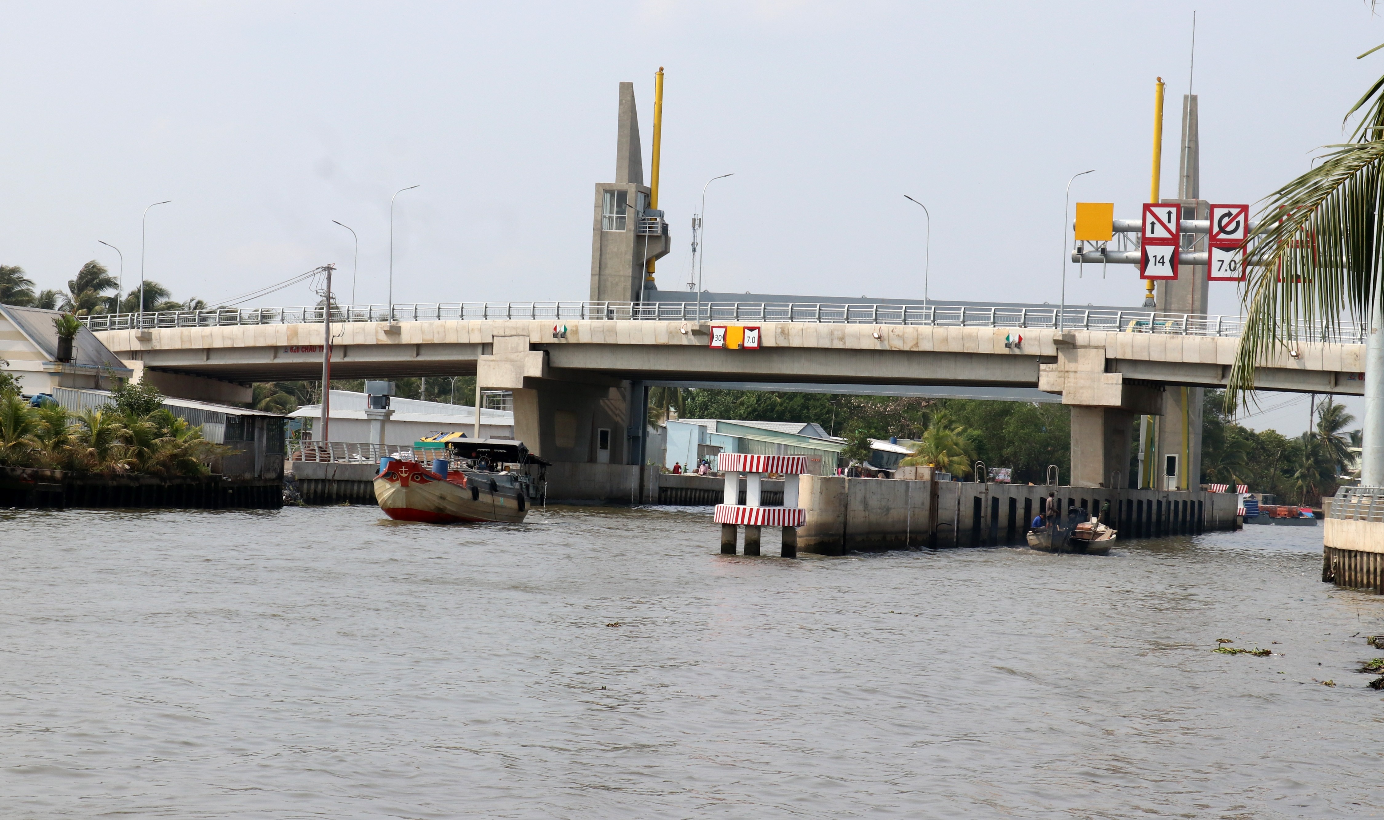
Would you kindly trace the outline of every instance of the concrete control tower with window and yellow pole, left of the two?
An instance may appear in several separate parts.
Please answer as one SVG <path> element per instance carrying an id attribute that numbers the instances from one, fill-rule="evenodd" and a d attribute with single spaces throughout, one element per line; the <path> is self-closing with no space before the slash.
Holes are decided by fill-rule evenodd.
<path id="1" fill-rule="evenodd" d="M 660 86 L 662 86 L 662 71 Z M 653 289 L 650 263 L 671 248 L 668 223 L 657 210 L 660 101 L 655 102 L 652 185 L 644 184 L 644 151 L 634 83 L 620 83 L 614 181 L 597 183 L 591 218 L 591 300 L 642 301 Z"/>

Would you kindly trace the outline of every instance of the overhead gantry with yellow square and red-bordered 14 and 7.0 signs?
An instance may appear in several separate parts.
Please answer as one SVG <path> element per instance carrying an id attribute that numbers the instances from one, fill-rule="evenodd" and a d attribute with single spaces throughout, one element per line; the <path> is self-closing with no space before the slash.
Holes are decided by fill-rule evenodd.
<path id="1" fill-rule="evenodd" d="M 1107 264 L 1136 264 L 1140 279 L 1176 279 L 1181 265 L 1208 265 L 1208 281 L 1243 282 L 1250 206 L 1197 205 L 1210 218 L 1185 218 L 1182 202 L 1146 203 L 1138 220 L 1114 218 L 1110 202 L 1078 202 L 1071 261 L 1099 264 L 1100 278 Z"/>

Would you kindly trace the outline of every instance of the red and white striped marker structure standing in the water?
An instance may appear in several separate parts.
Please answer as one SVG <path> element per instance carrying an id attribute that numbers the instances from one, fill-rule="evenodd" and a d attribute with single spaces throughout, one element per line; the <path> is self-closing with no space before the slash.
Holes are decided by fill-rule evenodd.
<path id="1" fill-rule="evenodd" d="M 783 528 L 785 559 L 797 557 L 797 527 L 807 512 L 797 506 L 797 477 L 807 469 L 800 455 L 750 455 L 722 452 L 716 469 L 725 473 L 725 495 L 716 505 L 716 523 L 721 525 L 721 552 L 735 555 L 736 531 L 745 524 L 745 555 L 760 555 L 760 527 Z M 783 476 L 783 506 L 760 505 L 760 480 L 764 473 Z M 745 476 L 745 503 L 740 503 L 740 476 Z"/>

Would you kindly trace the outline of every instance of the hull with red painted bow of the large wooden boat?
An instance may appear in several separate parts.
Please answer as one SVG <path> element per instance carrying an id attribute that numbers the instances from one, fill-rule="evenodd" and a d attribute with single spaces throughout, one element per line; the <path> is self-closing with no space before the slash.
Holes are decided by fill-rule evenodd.
<path id="1" fill-rule="evenodd" d="M 529 514 L 520 487 L 500 485 L 484 473 L 443 478 L 408 462 L 393 462 L 375 478 L 375 501 L 396 521 L 519 524 Z"/>

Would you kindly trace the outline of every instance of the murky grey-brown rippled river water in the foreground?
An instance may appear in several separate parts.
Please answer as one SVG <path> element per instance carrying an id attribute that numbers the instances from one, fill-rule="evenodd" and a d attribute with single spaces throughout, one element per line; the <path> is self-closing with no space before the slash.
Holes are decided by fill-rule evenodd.
<path id="1" fill-rule="evenodd" d="M 785 561 L 706 510 L 0 512 L 0 816 L 1378 816 L 1384 600 L 1320 532 Z"/>

